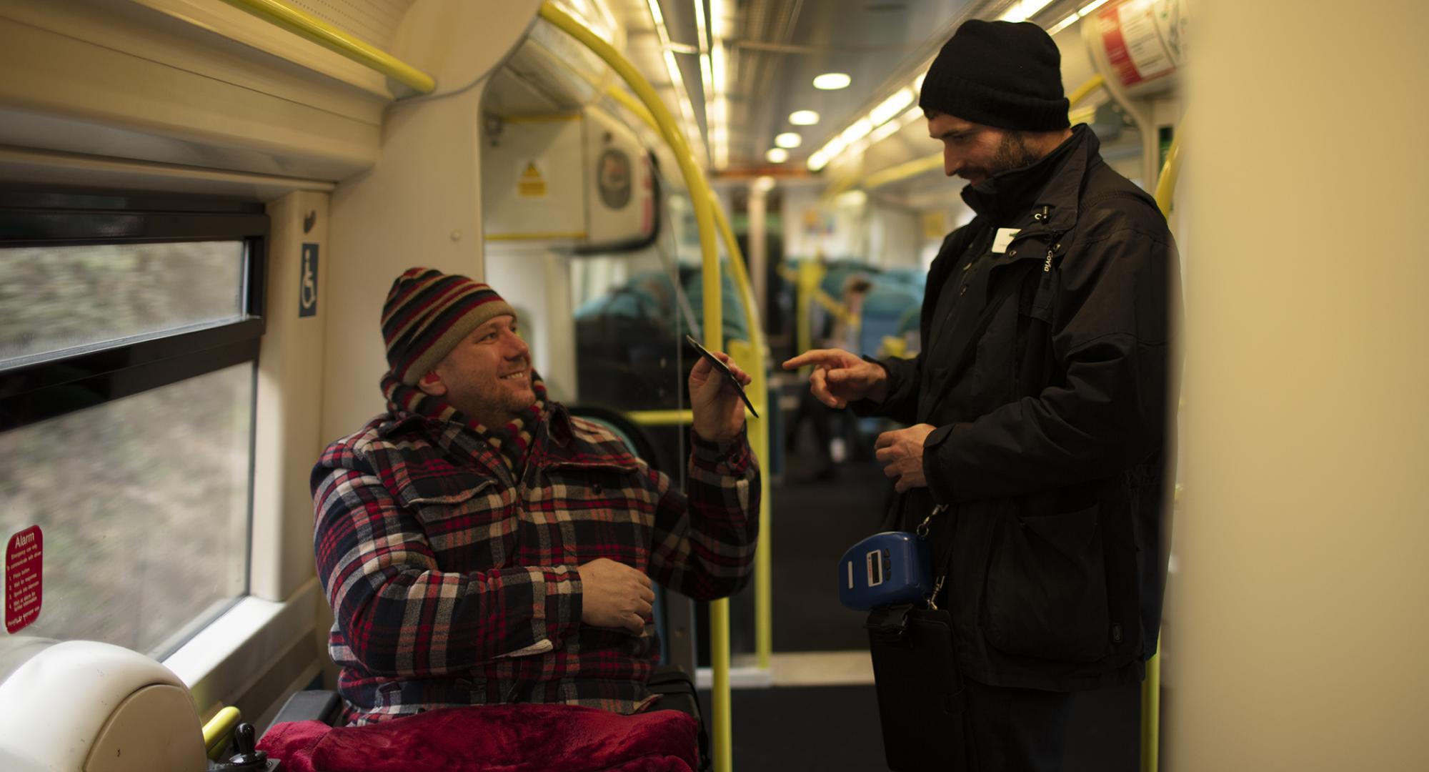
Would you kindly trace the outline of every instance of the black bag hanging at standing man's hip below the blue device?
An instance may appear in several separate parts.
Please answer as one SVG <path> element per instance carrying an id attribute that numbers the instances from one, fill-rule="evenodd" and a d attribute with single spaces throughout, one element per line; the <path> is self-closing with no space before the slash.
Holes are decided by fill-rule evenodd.
<path id="1" fill-rule="evenodd" d="M 933 509 L 933 515 L 945 510 Z M 917 526 L 927 536 L 929 515 Z M 952 540 L 952 528 L 947 529 Z M 963 679 L 953 658 L 953 619 L 935 598 L 952 563 L 952 543 L 943 545 L 937 578 L 926 608 L 873 609 L 867 622 L 873 681 L 883 725 L 883 755 L 893 772 L 962 772 Z"/>

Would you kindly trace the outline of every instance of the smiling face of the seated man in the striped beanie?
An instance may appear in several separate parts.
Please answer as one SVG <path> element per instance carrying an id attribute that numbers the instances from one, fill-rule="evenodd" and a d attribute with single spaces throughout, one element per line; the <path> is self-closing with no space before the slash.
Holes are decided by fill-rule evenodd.
<path id="1" fill-rule="evenodd" d="M 516 336 L 516 317 L 496 316 L 463 337 L 417 387 L 496 429 L 536 402 L 530 360 L 530 349 Z"/>

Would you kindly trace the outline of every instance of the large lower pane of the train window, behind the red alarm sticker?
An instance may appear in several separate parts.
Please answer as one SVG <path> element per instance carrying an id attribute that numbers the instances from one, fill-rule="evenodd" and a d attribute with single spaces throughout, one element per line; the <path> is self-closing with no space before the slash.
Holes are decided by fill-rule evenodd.
<path id="1" fill-rule="evenodd" d="M 253 365 L 0 435 L 6 536 L 44 535 L 26 635 L 163 656 L 247 589 Z"/>

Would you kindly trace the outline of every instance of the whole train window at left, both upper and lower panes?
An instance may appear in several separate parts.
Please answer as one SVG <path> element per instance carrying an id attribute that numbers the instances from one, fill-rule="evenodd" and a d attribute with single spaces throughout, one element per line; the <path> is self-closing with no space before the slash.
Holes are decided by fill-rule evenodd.
<path id="1" fill-rule="evenodd" d="M 262 204 L 0 192 L 0 536 L 24 635 L 161 658 L 247 592 Z"/>

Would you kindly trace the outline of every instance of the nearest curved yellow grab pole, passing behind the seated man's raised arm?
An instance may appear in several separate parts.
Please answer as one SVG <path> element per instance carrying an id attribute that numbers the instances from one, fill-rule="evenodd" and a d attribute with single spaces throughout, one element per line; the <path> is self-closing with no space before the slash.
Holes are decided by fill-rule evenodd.
<path id="1" fill-rule="evenodd" d="M 660 134 L 674 153 L 674 160 L 680 166 L 680 176 L 684 177 L 684 186 L 690 192 L 690 204 L 694 207 L 694 223 L 700 232 L 700 256 L 703 259 L 700 276 L 704 284 L 704 345 L 714 350 L 723 350 L 725 320 L 720 313 L 723 309 L 720 306 L 719 253 L 714 244 L 714 214 L 710 206 L 712 193 L 700 169 L 694 166 L 694 154 L 690 152 L 689 143 L 684 142 L 684 134 L 680 133 L 670 110 L 660 102 L 660 97 L 650 87 L 644 76 L 620 51 L 614 50 L 610 43 L 587 30 L 580 21 L 576 21 L 550 1 L 542 4 L 540 17 L 574 37 L 590 49 L 592 53 L 603 59 L 612 70 L 624 79 L 660 126 Z M 714 675 L 713 689 L 710 691 L 710 706 L 714 713 L 712 716 L 714 719 L 714 769 L 717 772 L 730 772 L 733 769 L 732 756 L 735 743 L 730 732 L 729 705 L 729 600 L 713 600 L 709 609 L 710 669 Z"/>

